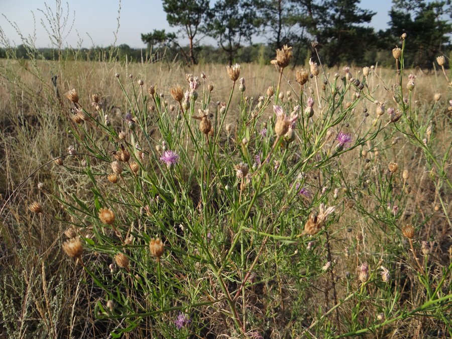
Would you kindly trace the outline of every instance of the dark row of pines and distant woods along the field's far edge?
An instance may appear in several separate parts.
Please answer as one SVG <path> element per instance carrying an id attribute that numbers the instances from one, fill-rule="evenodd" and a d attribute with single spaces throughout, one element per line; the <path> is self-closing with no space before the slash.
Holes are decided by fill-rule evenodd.
<path id="1" fill-rule="evenodd" d="M 182 60 L 205 62 L 269 63 L 275 49 L 292 46 L 293 64 L 317 58 L 311 47 L 317 41 L 320 61 L 329 66 L 343 64 L 392 65 L 388 50 L 401 44 L 407 34 L 405 65 L 431 68 L 438 55 L 448 56 L 452 48 L 451 0 L 393 0 L 389 28 L 375 31 L 369 26 L 376 13 L 360 7 L 359 0 L 162 0 L 167 21 L 176 33 L 153 30 L 141 34 L 148 49 L 123 44 L 78 50 L 20 45 L 0 49 L 0 57 L 54 60 Z M 202 44 L 211 37 L 216 46 Z M 256 39 L 259 37 L 259 39 Z M 258 43 L 252 43 L 258 40 Z M 187 43 L 188 42 L 188 43 Z"/>

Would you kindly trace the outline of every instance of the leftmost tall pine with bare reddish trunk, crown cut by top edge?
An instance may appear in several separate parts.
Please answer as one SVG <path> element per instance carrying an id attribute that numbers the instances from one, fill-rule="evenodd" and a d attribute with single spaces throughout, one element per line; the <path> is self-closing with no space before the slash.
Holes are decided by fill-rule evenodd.
<path id="1" fill-rule="evenodd" d="M 194 55 L 194 37 L 202 28 L 209 13 L 209 0 L 162 0 L 166 20 L 172 27 L 180 26 L 189 41 L 189 58 L 196 64 Z"/>

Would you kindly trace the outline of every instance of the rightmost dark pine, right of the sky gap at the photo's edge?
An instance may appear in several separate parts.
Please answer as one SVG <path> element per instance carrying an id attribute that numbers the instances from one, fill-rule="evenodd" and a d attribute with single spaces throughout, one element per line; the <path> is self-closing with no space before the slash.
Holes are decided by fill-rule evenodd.
<path id="1" fill-rule="evenodd" d="M 432 67 L 435 57 L 450 42 L 450 1 L 393 0 L 389 15 L 394 43 L 403 33 L 407 34 L 404 56 L 408 64 Z"/>

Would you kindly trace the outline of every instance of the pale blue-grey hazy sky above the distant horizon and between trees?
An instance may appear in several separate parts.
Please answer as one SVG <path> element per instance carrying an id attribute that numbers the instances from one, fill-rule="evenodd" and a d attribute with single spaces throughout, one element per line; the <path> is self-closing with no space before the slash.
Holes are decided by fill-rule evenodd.
<path id="1" fill-rule="evenodd" d="M 4 47 L 2 32 L 11 46 L 22 44 L 18 30 L 24 37 L 31 37 L 36 47 L 52 47 L 42 23 L 52 33 L 49 16 L 45 15 L 46 4 L 55 15 L 57 3 L 53 0 L 0 0 L 0 47 Z M 61 1 L 61 18 L 67 17 L 69 7 L 69 19 L 61 34 L 64 38 L 63 47 L 106 47 L 115 43 L 119 6 L 119 0 Z M 359 6 L 377 13 L 369 26 L 376 31 L 388 28 L 391 0 L 361 0 Z M 60 22 L 63 23 L 63 19 Z M 122 0 L 119 24 L 116 45 L 127 44 L 132 48 L 146 47 L 141 41 L 141 33 L 150 33 L 154 29 L 177 31 L 177 28 L 170 27 L 166 22 L 166 13 L 160 0 Z M 201 43 L 215 45 L 208 38 L 201 40 Z"/>

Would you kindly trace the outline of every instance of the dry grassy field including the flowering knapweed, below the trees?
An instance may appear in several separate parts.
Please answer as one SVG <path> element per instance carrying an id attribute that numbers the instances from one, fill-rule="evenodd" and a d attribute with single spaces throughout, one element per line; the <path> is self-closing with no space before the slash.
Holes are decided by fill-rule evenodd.
<path id="1" fill-rule="evenodd" d="M 1 60 L 0 336 L 452 337 L 449 71 L 287 61 Z"/>

